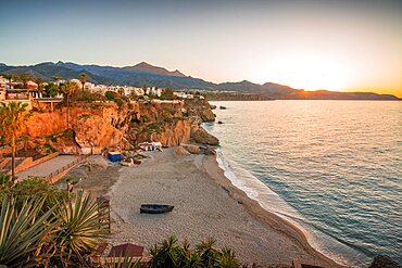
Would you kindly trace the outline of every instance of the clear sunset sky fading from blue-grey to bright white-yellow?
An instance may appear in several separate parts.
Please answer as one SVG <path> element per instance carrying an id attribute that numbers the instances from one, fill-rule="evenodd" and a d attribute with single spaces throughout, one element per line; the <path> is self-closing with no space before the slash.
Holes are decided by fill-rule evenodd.
<path id="1" fill-rule="evenodd" d="M 0 0 L 0 62 L 402 97 L 402 0 Z"/>

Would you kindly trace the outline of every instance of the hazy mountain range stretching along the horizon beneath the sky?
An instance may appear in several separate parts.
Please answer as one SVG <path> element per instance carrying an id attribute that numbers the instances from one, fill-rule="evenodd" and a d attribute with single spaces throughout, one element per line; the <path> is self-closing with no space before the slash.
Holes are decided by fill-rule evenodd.
<path id="1" fill-rule="evenodd" d="M 0 74 L 28 74 L 33 78 L 41 78 L 46 81 L 52 80 L 54 76 L 67 79 L 77 78 L 81 73 L 87 74 L 88 81 L 103 85 L 152 86 L 176 90 L 193 89 L 216 92 L 235 91 L 260 94 L 271 99 L 288 100 L 399 100 L 391 94 L 372 92 L 304 91 L 274 82 L 259 85 L 243 80 L 239 82 L 214 84 L 200 78 L 186 76 L 178 69 L 171 72 L 146 62 L 125 67 L 93 64 L 81 65 L 72 62 L 43 62 L 28 66 L 9 66 L 0 63 Z"/>

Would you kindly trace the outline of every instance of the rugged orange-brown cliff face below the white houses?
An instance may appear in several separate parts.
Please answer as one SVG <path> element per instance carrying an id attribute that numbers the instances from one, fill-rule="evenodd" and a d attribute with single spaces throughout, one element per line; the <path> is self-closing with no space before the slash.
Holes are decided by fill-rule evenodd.
<path id="1" fill-rule="evenodd" d="M 74 106 L 73 106 L 74 105 Z M 130 149 L 140 142 L 160 141 L 163 146 L 190 139 L 217 144 L 215 137 L 200 127 L 214 120 L 204 100 L 175 102 L 131 102 L 72 104 L 53 113 L 35 112 L 27 124 L 28 146 L 61 153 L 100 153 L 104 149 Z"/>

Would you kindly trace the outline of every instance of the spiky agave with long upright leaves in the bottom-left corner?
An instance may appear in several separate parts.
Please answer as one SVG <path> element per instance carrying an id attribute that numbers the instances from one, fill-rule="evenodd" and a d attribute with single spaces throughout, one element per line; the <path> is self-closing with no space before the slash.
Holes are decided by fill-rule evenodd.
<path id="1" fill-rule="evenodd" d="M 29 267 L 35 265 L 38 250 L 51 239 L 56 222 L 54 207 L 40 216 L 45 199 L 29 199 L 16 207 L 16 197 L 5 195 L 0 214 L 0 266 Z"/>

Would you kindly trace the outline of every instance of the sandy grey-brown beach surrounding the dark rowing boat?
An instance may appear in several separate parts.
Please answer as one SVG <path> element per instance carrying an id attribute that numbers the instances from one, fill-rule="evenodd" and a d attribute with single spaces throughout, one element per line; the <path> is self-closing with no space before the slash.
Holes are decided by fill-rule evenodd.
<path id="1" fill-rule="evenodd" d="M 196 245 L 213 237 L 217 246 L 233 248 L 248 265 L 266 267 L 299 260 L 340 267 L 313 250 L 297 227 L 233 187 L 216 156 L 175 155 L 174 150 L 148 153 L 151 158 L 139 166 L 89 173 L 92 175 L 83 181 L 87 190 L 93 188 L 111 197 L 111 244 L 130 242 L 150 248 L 176 234 L 179 242 L 187 239 Z M 145 203 L 175 208 L 163 215 L 140 214 Z"/>

